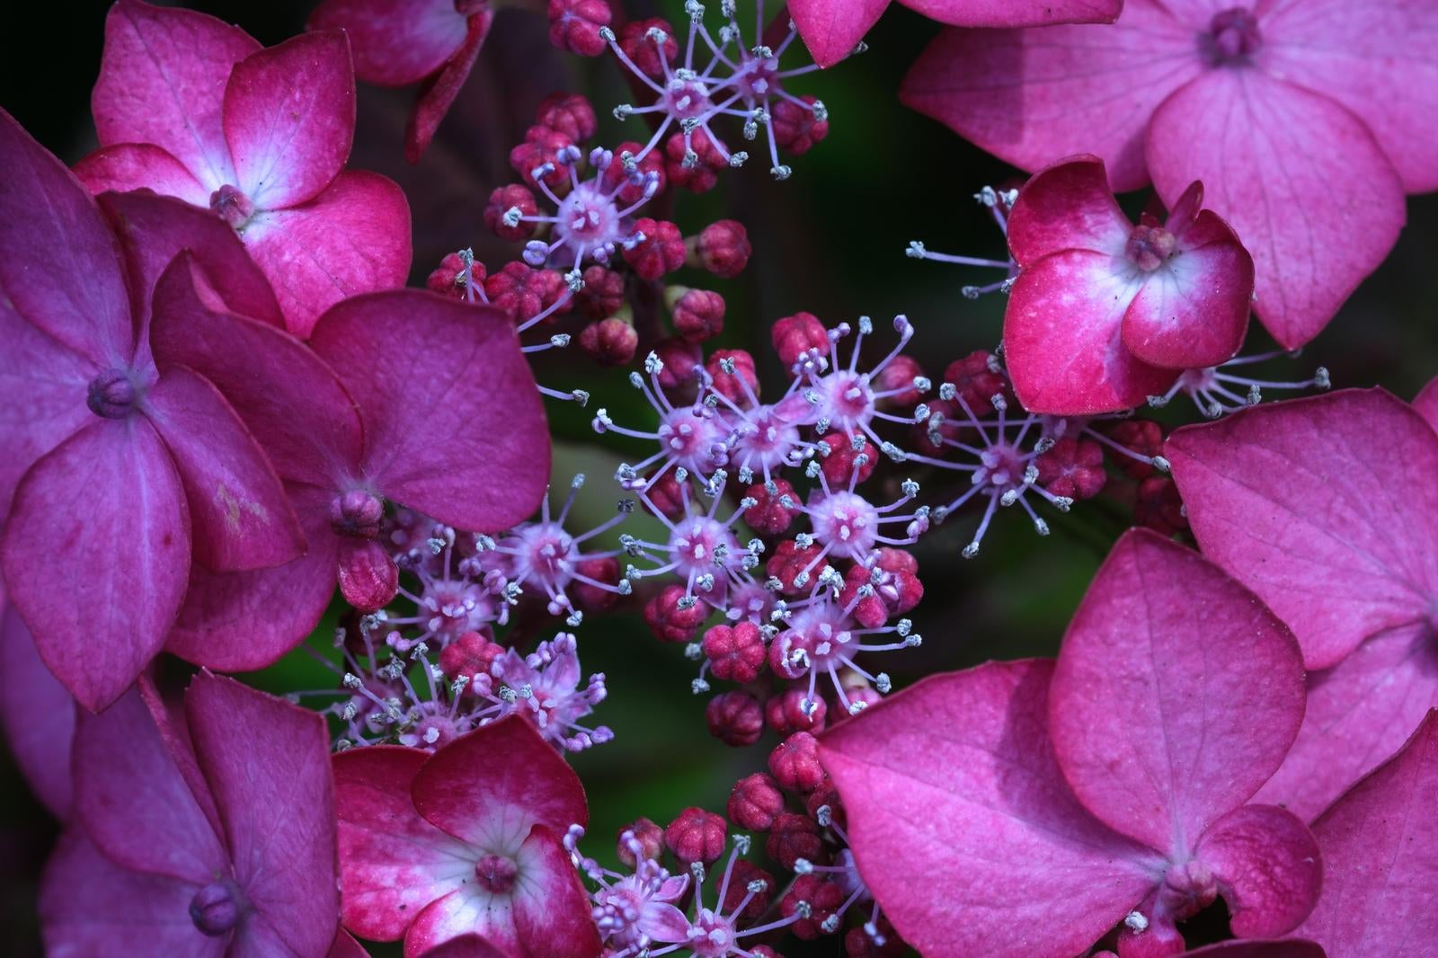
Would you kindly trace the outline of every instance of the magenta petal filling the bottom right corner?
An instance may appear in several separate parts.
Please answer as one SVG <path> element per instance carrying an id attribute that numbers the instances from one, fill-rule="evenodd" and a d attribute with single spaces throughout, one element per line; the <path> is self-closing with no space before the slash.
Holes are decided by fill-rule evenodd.
<path id="1" fill-rule="evenodd" d="M 1334 958 L 1438 954 L 1438 712 L 1313 826 L 1326 879 L 1297 935 Z"/>

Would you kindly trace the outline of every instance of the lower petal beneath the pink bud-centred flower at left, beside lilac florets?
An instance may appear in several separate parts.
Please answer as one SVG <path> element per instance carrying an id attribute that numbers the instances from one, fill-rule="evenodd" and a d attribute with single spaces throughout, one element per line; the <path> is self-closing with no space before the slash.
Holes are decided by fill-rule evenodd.
<path id="1" fill-rule="evenodd" d="M 289 485 L 308 549 L 293 562 L 252 572 L 190 570 L 165 652 L 224 672 L 273 665 L 309 636 L 335 594 L 338 539 L 329 528 L 334 492 Z"/>

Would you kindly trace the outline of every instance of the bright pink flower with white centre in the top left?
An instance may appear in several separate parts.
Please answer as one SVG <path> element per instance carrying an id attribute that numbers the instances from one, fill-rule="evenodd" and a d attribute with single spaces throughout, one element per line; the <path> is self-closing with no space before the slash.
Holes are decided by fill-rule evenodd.
<path id="1" fill-rule="evenodd" d="M 101 148 L 76 164 L 81 181 L 213 210 L 265 270 L 292 332 L 308 335 L 348 295 L 404 285 L 404 194 L 345 170 L 355 89 L 342 32 L 263 49 L 203 13 L 121 0 L 92 109 Z"/>

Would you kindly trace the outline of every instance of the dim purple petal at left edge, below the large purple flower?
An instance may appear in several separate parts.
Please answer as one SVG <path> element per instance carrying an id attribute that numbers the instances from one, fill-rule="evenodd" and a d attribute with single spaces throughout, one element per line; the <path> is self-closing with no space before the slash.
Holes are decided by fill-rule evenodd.
<path id="1" fill-rule="evenodd" d="M 30 630 L 10 607 L 0 607 L 0 726 L 30 788 L 50 814 L 69 818 L 75 699 L 40 662 Z"/>

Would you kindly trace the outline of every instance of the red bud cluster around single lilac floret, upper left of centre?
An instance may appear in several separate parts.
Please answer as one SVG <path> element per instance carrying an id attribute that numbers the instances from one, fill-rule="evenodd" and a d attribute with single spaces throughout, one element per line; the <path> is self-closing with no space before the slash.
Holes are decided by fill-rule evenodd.
<path id="1" fill-rule="evenodd" d="M 692 354 L 723 331 L 725 299 L 674 282 L 674 275 L 689 269 L 733 279 L 749 262 L 748 232 L 736 220 L 718 220 L 686 234 L 669 219 L 647 216 L 673 184 L 664 163 L 637 142 L 585 147 L 594 132 L 594 108 L 584 96 L 545 99 L 509 154 L 522 181 L 498 187 L 483 214 L 495 234 L 522 245 L 521 255 L 490 272 L 460 250 L 429 285 L 503 309 L 521 334 L 544 329 L 548 335 L 526 352 L 578 339 L 600 365 L 628 365 L 641 342 Z M 541 388 L 557 398 L 588 398 Z"/>

